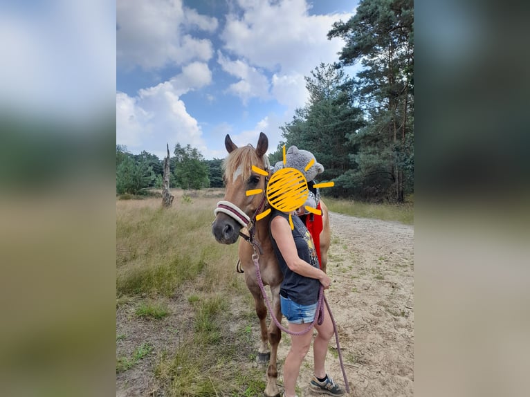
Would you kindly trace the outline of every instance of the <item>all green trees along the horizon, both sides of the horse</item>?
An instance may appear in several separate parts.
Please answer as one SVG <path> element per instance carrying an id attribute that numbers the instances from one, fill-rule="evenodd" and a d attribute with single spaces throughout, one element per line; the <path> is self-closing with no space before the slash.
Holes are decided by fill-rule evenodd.
<path id="1" fill-rule="evenodd" d="M 345 41 L 339 60 L 305 77 L 309 101 L 280 127 L 282 142 L 269 156 L 271 164 L 282 160 L 284 145 L 296 145 L 325 165 L 320 181 L 335 183 L 326 194 L 403 202 L 414 192 L 413 23 L 412 0 L 362 0 L 351 19 L 333 24 L 327 37 Z M 347 75 L 346 68 L 359 63 L 362 70 Z M 223 187 L 221 159 L 205 160 L 197 149 L 179 144 L 174 155 L 171 187 Z M 119 145 L 116 156 L 118 192 L 121 182 L 132 190 L 140 181 L 161 186 L 163 167 L 156 156 L 127 154 Z"/>

